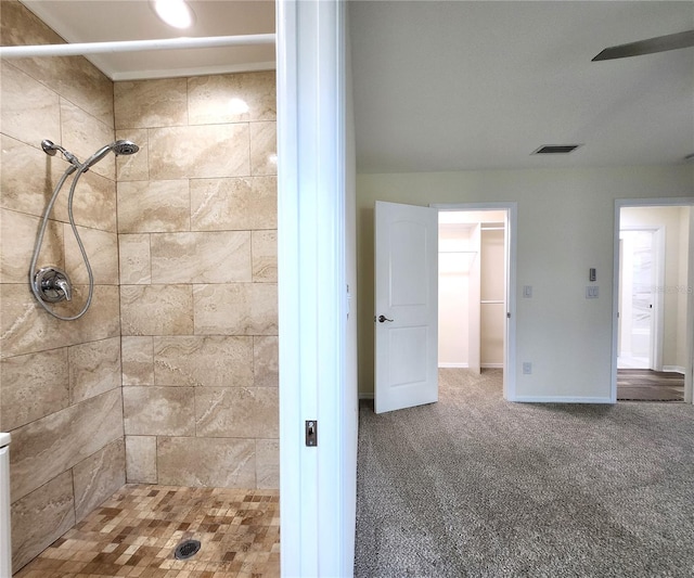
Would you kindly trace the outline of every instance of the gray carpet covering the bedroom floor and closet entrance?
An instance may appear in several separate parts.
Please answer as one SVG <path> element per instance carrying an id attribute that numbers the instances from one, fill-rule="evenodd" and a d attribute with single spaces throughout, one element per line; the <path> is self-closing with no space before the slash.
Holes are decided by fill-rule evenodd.
<path id="1" fill-rule="evenodd" d="M 356 577 L 694 576 L 694 408 L 439 402 L 359 423 Z"/>

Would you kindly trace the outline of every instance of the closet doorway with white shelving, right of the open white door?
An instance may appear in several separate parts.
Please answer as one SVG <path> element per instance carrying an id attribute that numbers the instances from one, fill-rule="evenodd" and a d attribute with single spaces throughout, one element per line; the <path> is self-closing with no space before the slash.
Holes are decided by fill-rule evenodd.
<path id="1" fill-rule="evenodd" d="M 439 210 L 438 365 L 503 371 L 515 400 L 515 203 Z"/>

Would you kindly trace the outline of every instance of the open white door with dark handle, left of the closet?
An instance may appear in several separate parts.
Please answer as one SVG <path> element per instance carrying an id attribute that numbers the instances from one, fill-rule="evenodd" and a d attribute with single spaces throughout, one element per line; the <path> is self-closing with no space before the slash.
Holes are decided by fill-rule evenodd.
<path id="1" fill-rule="evenodd" d="M 376 202 L 375 412 L 438 400 L 438 210 Z"/>

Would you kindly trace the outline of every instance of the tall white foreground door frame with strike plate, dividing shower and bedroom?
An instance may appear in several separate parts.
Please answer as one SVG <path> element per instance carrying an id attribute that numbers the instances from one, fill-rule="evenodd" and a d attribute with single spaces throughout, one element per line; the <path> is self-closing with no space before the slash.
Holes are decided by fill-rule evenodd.
<path id="1" fill-rule="evenodd" d="M 357 440 L 342 402 L 351 170 L 345 3 L 278 0 L 277 29 L 282 576 L 347 576 Z M 318 420 L 317 447 L 305 444 L 308 420 Z"/>

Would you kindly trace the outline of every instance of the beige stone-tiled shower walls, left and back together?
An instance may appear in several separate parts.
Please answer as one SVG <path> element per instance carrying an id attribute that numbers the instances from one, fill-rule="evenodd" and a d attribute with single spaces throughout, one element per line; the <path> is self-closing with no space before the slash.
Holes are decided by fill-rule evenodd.
<path id="1" fill-rule="evenodd" d="M 62 40 L 3 0 L 3 44 Z M 126 483 L 279 487 L 274 73 L 112 82 L 81 57 L 2 62 L 0 431 L 11 432 L 15 571 Z M 231 105 L 230 105 L 231 103 Z M 27 272 L 66 164 L 94 270 L 78 321 Z M 87 275 L 61 194 L 39 264 Z"/>

